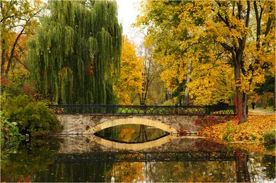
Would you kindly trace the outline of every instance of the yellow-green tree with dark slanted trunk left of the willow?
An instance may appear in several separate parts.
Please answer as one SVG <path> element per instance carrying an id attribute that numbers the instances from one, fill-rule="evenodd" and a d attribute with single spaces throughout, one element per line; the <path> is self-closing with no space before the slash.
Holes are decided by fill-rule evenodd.
<path id="1" fill-rule="evenodd" d="M 26 36 L 34 34 L 42 1 L 1 1 L 1 74 L 8 74 L 15 63 L 26 67 Z"/>

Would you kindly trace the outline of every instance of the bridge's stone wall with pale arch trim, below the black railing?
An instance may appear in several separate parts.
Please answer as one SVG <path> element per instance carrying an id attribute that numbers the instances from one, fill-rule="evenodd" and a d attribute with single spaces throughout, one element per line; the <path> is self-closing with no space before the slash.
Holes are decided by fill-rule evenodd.
<path id="1" fill-rule="evenodd" d="M 191 133 L 200 131 L 204 124 L 196 125 L 196 121 L 206 120 L 213 121 L 228 120 L 231 116 L 135 116 L 135 115 L 108 115 L 108 114 L 56 114 L 63 126 L 62 133 L 95 133 L 101 129 L 114 127 L 117 125 L 148 125 L 158 129 L 163 129 L 169 133 L 185 130 Z M 215 120 L 214 120 L 215 119 Z"/>

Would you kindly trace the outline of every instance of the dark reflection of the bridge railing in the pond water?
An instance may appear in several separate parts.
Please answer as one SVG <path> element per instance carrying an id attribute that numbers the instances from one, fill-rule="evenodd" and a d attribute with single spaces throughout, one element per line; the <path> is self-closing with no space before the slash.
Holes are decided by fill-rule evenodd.
<path id="1" fill-rule="evenodd" d="M 83 153 L 54 155 L 55 163 L 234 161 L 234 151 Z"/>

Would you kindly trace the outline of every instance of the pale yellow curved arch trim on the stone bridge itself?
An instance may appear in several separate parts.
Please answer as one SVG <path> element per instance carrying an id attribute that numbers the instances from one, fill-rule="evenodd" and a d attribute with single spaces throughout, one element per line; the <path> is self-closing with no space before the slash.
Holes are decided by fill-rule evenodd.
<path id="1" fill-rule="evenodd" d="M 109 120 L 106 122 L 103 122 L 99 125 L 96 125 L 95 127 L 92 127 L 85 131 L 84 133 L 96 133 L 97 131 L 101 131 L 102 129 L 107 129 L 109 127 L 115 127 L 117 125 L 147 125 L 150 127 L 155 127 L 157 129 L 162 129 L 164 131 L 168 131 L 169 133 L 177 132 L 176 129 L 161 123 L 159 121 L 155 120 L 149 120 L 145 118 L 121 118 L 116 120 Z"/>

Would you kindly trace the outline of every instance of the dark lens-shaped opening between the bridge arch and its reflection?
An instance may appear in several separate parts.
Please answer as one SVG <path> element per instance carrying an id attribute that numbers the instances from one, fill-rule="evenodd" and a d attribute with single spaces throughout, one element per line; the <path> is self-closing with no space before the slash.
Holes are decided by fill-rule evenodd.
<path id="1" fill-rule="evenodd" d="M 121 143 L 150 142 L 168 136 L 170 133 L 147 125 L 117 125 L 98 131 L 95 136 Z"/>

